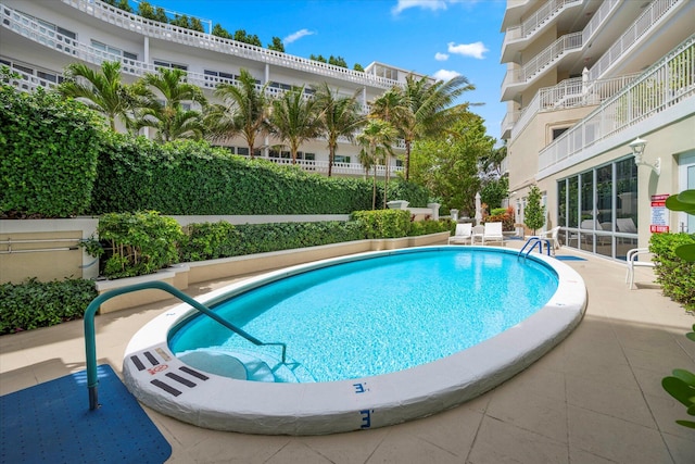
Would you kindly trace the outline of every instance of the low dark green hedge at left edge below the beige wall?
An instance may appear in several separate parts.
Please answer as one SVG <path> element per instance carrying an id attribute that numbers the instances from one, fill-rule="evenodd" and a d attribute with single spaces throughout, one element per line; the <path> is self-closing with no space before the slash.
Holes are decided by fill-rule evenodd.
<path id="1" fill-rule="evenodd" d="M 0 285 L 0 334 L 14 334 L 81 318 L 97 298 L 94 283 L 83 279 Z"/>

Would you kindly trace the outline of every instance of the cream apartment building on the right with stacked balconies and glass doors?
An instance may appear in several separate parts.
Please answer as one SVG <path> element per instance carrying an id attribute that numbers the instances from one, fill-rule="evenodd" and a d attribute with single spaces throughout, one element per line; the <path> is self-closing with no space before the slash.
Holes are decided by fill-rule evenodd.
<path id="1" fill-rule="evenodd" d="M 502 32 L 517 221 L 535 184 L 565 246 L 624 260 L 653 233 L 695 233 L 662 205 L 695 188 L 695 1 L 507 0 Z"/>

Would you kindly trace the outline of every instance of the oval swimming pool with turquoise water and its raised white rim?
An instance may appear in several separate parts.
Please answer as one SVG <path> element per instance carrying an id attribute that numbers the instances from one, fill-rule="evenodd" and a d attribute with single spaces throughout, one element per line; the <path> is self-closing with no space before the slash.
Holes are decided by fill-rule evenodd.
<path id="1" fill-rule="evenodd" d="M 453 407 L 522 371 L 579 323 L 585 293 L 571 267 L 516 250 L 361 253 L 198 299 L 287 343 L 286 363 L 279 347 L 257 349 L 181 304 L 136 334 L 124 377 L 143 403 L 201 427 L 368 429 Z"/>

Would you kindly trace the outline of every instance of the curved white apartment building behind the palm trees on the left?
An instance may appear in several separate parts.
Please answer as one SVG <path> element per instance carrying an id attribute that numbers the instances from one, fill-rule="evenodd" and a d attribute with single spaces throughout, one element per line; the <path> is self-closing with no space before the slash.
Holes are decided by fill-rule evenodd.
<path id="1" fill-rule="evenodd" d="M 279 95 L 292 86 L 324 81 L 341 95 L 359 95 L 365 111 L 368 103 L 410 74 L 383 63 L 371 63 L 357 72 L 210 34 L 180 28 L 127 13 L 99 0 L 0 0 L 0 65 L 8 65 L 22 78 L 14 84 L 24 90 L 54 87 L 63 70 L 74 62 L 98 68 L 103 61 L 121 61 L 124 81 L 130 84 L 157 67 L 186 70 L 189 83 L 215 101 L 218 83 L 233 83 L 241 68 L 268 91 Z M 419 75 L 418 75 L 419 77 Z M 291 163 L 289 149 L 275 149 L 277 140 L 266 138 L 255 155 L 280 164 Z M 232 140 L 229 149 L 248 155 L 244 140 Z M 397 149 L 402 150 L 403 147 Z M 336 153 L 333 175 L 363 176 L 359 148 L 342 140 Z M 298 163 L 307 171 L 328 172 L 326 140 L 301 147 Z M 401 171 L 390 162 L 393 175 Z M 384 166 L 377 174 L 386 174 Z"/>

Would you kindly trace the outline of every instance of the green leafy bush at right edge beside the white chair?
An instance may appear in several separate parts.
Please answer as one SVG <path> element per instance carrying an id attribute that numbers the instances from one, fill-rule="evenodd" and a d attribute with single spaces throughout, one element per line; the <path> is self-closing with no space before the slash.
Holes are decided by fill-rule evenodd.
<path id="1" fill-rule="evenodd" d="M 649 251 L 654 253 L 656 281 L 664 294 L 695 311 L 695 262 L 677 254 L 680 247 L 688 244 L 695 244 L 695 234 L 653 234 Z"/>

